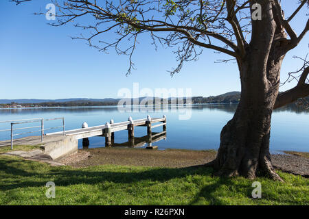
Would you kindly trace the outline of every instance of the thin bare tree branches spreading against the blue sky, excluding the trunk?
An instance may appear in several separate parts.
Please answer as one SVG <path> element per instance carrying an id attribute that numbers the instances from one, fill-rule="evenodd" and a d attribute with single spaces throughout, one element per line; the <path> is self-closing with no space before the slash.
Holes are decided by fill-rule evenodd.
<path id="1" fill-rule="evenodd" d="M 31 0 L 10 0 L 19 4 Z M 179 73 L 184 62 L 197 60 L 203 48 L 212 49 L 232 56 L 238 62 L 246 55 L 247 41 L 244 34 L 251 33 L 251 0 L 67 0 L 53 1 L 57 6 L 57 21 L 53 26 L 75 23 L 75 27 L 89 30 L 87 36 L 72 37 L 87 40 L 90 47 L 106 52 L 113 47 L 118 54 L 128 55 L 128 73 L 134 69 L 133 53 L 139 35 L 148 33 L 152 44 L 157 43 L 176 47 L 178 66 L 170 71 L 171 75 Z M 305 1 L 288 18 L 284 19 L 278 0 L 274 0 L 280 23 L 290 36 L 288 50 L 297 46 L 309 28 L 309 21 L 304 31 L 297 37 L 290 27 L 291 21 L 304 7 Z M 93 18 L 91 25 L 82 25 L 84 17 Z M 89 21 L 87 21 L 89 22 Z M 114 31 L 119 37 L 113 42 L 106 42 L 104 34 Z M 131 44 L 122 44 L 129 40 Z M 126 46 L 126 48 L 122 48 Z M 230 59 L 227 59 L 230 60 Z M 225 62 L 220 60 L 219 62 Z"/>

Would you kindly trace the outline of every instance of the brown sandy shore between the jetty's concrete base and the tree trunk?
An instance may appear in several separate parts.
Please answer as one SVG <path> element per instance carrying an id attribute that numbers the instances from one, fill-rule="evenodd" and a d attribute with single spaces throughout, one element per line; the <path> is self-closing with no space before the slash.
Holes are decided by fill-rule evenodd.
<path id="1" fill-rule="evenodd" d="M 205 164 L 215 157 L 215 151 L 100 148 L 79 150 L 76 155 L 66 157 L 60 162 L 76 167 L 115 164 L 180 168 Z"/>

